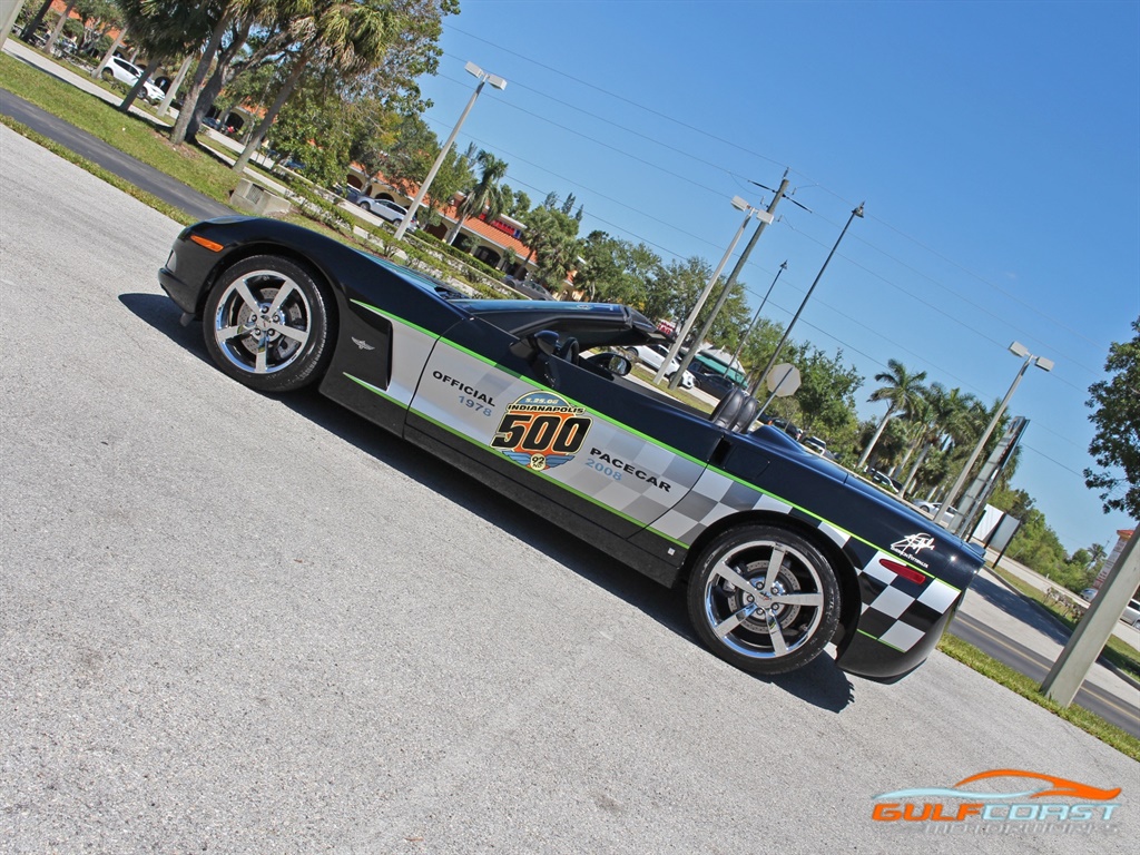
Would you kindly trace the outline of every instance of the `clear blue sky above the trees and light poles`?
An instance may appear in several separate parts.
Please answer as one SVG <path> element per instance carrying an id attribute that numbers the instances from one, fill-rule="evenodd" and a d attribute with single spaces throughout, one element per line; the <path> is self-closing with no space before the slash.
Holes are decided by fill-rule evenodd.
<path id="1" fill-rule="evenodd" d="M 866 202 L 793 337 L 868 380 L 888 359 L 987 402 L 1018 340 L 1031 369 L 1011 412 L 1029 420 L 1013 479 L 1066 547 L 1109 548 L 1081 471 L 1088 388 L 1140 316 L 1140 3 L 463 0 L 440 73 L 422 81 L 446 137 L 510 163 L 532 202 L 573 193 L 595 228 L 666 260 L 716 263 L 790 170 L 796 201 L 743 282 L 787 324 L 852 209 Z M 752 298 L 758 306 L 759 296 Z"/>

